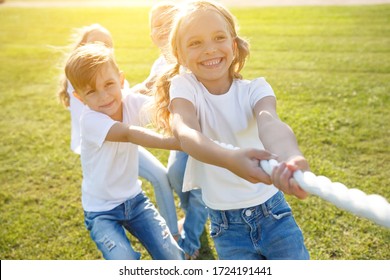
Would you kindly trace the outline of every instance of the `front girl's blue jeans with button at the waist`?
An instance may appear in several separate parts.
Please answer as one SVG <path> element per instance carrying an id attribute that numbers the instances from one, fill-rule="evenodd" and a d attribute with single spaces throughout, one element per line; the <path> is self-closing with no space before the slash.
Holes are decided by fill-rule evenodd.
<path id="1" fill-rule="evenodd" d="M 209 209 L 210 235 L 221 260 L 307 260 L 291 208 L 278 192 L 265 203 L 237 210 Z"/>

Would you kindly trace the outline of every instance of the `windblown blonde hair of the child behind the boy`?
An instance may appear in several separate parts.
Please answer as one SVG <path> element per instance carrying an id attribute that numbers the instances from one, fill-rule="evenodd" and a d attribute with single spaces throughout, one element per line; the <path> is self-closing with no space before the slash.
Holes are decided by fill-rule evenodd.
<path id="1" fill-rule="evenodd" d="M 107 47 L 113 47 L 111 33 L 100 24 L 94 23 L 88 26 L 83 26 L 81 28 L 75 29 L 74 33 L 71 35 L 71 38 L 73 39 L 72 49 L 75 50 L 82 45 L 85 45 L 90 42 L 95 42 L 95 40 L 93 40 L 93 35 L 96 34 L 103 35 L 105 37 L 106 40 L 103 43 L 106 44 Z M 68 94 L 68 79 L 66 78 L 65 74 L 61 75 L 59 86 L 60 88 L 57 92 L 58 99 L 65 107 L 69 107 L 70 97 Z"/>

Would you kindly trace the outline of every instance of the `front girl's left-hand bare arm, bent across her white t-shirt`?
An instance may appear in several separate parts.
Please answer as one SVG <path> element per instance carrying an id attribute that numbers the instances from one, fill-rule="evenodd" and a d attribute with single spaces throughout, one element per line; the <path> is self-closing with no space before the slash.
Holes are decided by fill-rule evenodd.
<path id="1" fill-rule="evenodd" d="M 172 129 L 182 150 L 204 163 L 226 168 L 252 183 L 270 184 L 270 177 L 259 168 L 259 161 L 270 159 L 267 151 L 257 149 L 225 149 L 200 132 L 193 104 L 182 98 L 172 100 Z"/>

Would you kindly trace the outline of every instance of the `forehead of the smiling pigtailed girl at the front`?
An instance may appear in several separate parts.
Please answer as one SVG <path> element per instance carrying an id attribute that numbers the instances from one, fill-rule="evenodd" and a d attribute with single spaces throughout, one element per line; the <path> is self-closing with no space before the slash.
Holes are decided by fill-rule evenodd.
<path id="1" fill-rule="evenodd" d="M 184 40 L 219 31 L 229 33 L 228 23 L 219 12 L 212 9 L 193 12 L 179 27 L 180 37 Z"/>

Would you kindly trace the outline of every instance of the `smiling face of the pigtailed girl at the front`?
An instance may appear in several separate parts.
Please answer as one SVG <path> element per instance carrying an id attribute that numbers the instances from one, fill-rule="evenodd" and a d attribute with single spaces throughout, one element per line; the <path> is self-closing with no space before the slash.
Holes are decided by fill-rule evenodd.
<path id="1" fill-rule="evenodd" d="M 195 12 L 178 30 L 179 62 L 210 93 L 226 93 L 232 78 L 234 40 L 225 19 L 214 10 Z"/>

